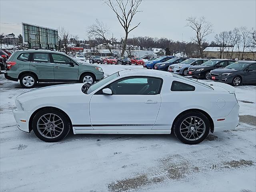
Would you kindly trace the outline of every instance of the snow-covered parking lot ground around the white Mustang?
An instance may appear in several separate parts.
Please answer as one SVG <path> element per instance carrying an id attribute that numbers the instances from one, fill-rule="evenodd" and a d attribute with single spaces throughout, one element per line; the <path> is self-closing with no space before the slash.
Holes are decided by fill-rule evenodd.
<path id="1" fill-rule="evenodd" d="M 142 68 L 100 66 L 106 76 Z M 194 146 L 173 134 L 69 134 L 42 142 L 15 126 L 14 98 L 26 91 L 0 74 L 0 191 L 256 191 L 256 86 L 236 88 L 237 128 Z"/>

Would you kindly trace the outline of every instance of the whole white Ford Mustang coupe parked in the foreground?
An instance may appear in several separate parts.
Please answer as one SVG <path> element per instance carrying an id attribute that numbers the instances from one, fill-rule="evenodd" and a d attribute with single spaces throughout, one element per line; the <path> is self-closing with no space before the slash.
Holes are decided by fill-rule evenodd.
<path id="1" fill-rule="evenodd" d="M 235 88 L 158 70 L 122 70 L 92 84 L 39 88 L 16 98 L 20 130 L 43 141 L 74 134 L 170 134 L 186 144 L 238 125 Z"/>

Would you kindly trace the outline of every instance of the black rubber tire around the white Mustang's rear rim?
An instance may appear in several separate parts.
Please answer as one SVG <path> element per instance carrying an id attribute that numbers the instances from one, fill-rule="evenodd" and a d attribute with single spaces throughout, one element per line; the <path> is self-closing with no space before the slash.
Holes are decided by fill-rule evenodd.
<path id="1" fill-rule="evenodd" d="M 192 128 L 192 126 L 189 128 L 189 129 L 186 129 L 186 128 L 184 128 L 184 127 L 182 127 L 182 126 L 184 126 L 183 124 L 182 124 L 182 122 L 184 121 L 184 120 L 186 120 L 187 118 L 190 118 L 190 117 L 196 117 L 196 118 L 200 118 L 203 122 L 204 122 L 204 125 L 205 125 L 205 130 L 204 130 L 204 133 L 202 133 L 202 134 L 200 134 L 199 132 L 199 137 L 196 139 L 195 137 L 195 139 L 196 140 L 188 140 L 188 138 L 187 137 L 189 137 L 190 135 L 192 135 L 192 129 L 190 130 L 190 128 Z M 192 122 L 193 122 L 193 120 L 191 120 Z M 199 125 L 199 127 L 201 126 L 202 124 L 200 124 Z M 193 130 L 194 130 L 194 134 L 196 133 L 197 135 L 198 135 L 198 133 L 197 133 L 197 131 L 198 130 L 196 130 L 196 122 L 194 121 L 194 125 L 193 125 L 194 127 L 193 127 Z M 201 126 L 202 127 L 202 126 Z M 182 133 L 181 133 L 181 131 L 180 131 L 180 129 L 183 129 L 185 132 L 186 132 L 186 130 L 188 131 L 188 132 L 190 132 L 190 133 L 188 133 L 188 135 L 186 135 L 185 136 L 185 138 L 184 138 L 184 136 L 182 136 Z M 197 128 L 198 129 L 198 128 Z M 209 132 L 210 132 L 210 122 L 209 122 L 209 120 L 208 120 L 208 118 L 204 115 L 204 114 L 202 114 L 201 112 L 199 112 L 199 111 L 194 111 L 194 112 L 186 112 L 186 113 L 184 113 L 184 114 L 182 114 L 175 122 L 174 122 L 174 127 L 173 127 L 173 130 L 174 130 L 174 134 L 175 134 L 175 136 L 181 141 L 181 142 L 183 142 L 183 143 L 185 143 L 185 144 L 189 144 L 189 145 L 194 145 L 194 144 L 198 144 L 198 143 L 200 143 L 200 142 L 202 142 L 207 136 L 208 136 L 208 134 L 209 134 Z M 202 129 L 201 128 L 199 128 L 199 130 L 200 131 L 202 131 Z M 185 132 L 183 132 L 184 134 L 185 134 Z M 193 134 L 193 135 L 194 135 Z"/>

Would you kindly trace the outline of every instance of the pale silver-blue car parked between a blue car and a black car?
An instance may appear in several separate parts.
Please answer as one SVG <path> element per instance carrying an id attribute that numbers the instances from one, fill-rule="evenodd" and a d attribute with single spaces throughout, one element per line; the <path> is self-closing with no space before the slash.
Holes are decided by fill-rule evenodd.
<path id="1" fill-rule="evenodd" d="M 204 62 L 208 61 L 208 59 L 187 59 L 182 61 L 181 63 L 178 64 L 172 64 L 169 66 L 168 71 L 180 75 L 187 75 L 188 73 L 188 68 L 194 66 L 194 65 L 201 65 Z"/>

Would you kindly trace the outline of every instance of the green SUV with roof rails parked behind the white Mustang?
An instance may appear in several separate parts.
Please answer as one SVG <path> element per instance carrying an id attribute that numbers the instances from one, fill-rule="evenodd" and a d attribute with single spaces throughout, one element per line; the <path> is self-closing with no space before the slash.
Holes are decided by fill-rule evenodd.
<path id="1" fill-rule="evenodd" d="M 92 84 L 104 78 L 102 68 L 82 64 L 57 51 L 19 50 L 6 62 L 4 77 L 18 81 L 24 88 L 33 88 L 38 82 L 81 82 Z"/>

